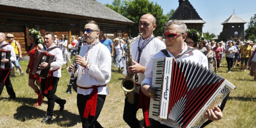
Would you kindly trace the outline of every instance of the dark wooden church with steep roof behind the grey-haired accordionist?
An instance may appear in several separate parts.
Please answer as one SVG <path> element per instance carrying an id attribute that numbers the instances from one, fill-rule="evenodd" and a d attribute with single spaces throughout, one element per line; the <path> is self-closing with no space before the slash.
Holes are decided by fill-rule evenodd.
<path id="1" fill-rule="evenodd" d="M 169 20 L 181 20 L 188 29 L 197 29 L 202 33 L 204 22 L 188 0 L 179 0 L 179 7 Z"/>

